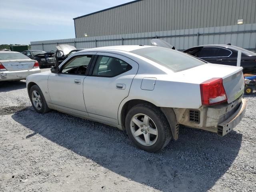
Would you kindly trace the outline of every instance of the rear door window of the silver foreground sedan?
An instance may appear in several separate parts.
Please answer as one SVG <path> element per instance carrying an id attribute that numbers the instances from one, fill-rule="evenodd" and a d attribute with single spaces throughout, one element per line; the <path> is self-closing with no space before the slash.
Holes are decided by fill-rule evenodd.
<path id="1" fill-rule="evenodd" d="M 118 58 L 98 56 L 92 75 L 114 77 L 130 70 L 132 66 Z"/>

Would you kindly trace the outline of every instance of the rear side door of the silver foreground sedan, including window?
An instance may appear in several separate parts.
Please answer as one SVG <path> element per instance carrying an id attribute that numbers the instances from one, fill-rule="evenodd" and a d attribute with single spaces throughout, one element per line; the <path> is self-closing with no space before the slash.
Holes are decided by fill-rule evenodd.
<path id="1" fill-rule="evenodd" d="M 84 102 L 92 118 L 118 124 L 118 108 L 129 94 L 138 64 L 112 53 L 98 52 L 84 79 Z"/>

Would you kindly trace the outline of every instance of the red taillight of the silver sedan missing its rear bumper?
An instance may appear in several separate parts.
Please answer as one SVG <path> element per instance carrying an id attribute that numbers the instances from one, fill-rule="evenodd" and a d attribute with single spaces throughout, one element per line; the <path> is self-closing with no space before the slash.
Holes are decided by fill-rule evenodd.
<path id="1" fill-rule="evenodd" d="M 212 105 L 227 101 L 222 78 L 212 78 L 200 84 L 203 105 Z"/>

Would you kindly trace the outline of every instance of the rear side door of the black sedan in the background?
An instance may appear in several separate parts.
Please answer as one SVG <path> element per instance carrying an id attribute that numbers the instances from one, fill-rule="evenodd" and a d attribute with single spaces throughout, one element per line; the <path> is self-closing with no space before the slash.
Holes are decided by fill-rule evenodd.
<path id="1" fill-rule="evenodd" d="M 203 47 L 199 58 L 209 63 L 227 64 L 226 59 L 232 54 L 232 51 L 221 47 Z"/>

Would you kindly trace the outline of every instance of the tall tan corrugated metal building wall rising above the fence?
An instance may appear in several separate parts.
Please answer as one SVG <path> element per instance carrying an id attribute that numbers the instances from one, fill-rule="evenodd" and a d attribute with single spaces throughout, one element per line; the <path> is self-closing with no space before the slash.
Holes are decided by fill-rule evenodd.
<path id="1" fill-rule="evenodd" d="M 77 18 L 76 37 L 256 23 L 256 0 L 142 0 Z"/>

